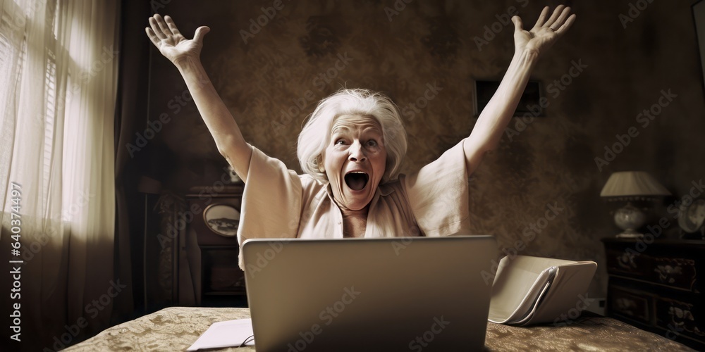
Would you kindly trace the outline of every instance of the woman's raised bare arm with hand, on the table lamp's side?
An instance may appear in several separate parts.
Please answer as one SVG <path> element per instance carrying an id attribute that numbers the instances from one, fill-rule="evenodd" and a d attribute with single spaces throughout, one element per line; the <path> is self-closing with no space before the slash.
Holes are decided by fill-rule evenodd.
<path id="1" fill-rule="evenodd" d="M 575 21 L 575 15 L 570 15 L 570 8 L 563 5 L 556 7 L 548 20 L 547 16 L 548 7 L 541 11 L 539 19 L 529 31 L 523 29 L 521 18 L 512 18 L 515 27 L 514 57 L 497 92 L 477 118 L 470 137 L 463 141 L 468 175 L 477 169 L 484 154 L 495 149 L 499 143 L 519 104 L 539 55 L 553 45 Z"/>

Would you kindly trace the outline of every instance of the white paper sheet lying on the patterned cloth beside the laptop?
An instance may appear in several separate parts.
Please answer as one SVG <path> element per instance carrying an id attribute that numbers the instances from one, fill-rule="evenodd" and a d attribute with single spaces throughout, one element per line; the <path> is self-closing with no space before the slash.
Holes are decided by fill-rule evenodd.
<path id="1" fill-rule="evenodd" d="M 214 322 L 186 351 L 204 348 L 238 347 L 252 336 L 252 319 L 227 320 Z M 255 339 L 245 345 L 254 346 Z"/>

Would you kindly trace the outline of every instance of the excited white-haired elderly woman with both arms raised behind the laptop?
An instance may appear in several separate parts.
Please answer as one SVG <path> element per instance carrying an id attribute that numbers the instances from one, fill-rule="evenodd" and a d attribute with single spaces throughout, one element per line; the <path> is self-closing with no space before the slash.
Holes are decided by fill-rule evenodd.
<path id="1" fill-rule="evenodd" d="M 575 20 L 570 8 L 515 25 L 515 54 L 472 133 L 412 175 L 399 175 L 407 139 L 396 105 L 364 89 L 323 99 L 298 139 L 305 175 L 248 144 L 200 62 L 199 27 L 186 39 L 154 15 L 147 35 L 180 71 L 220 153 L 245 181 L 238 239 L 446 236 L 469 228 L 467 178 L 498 144 L 537 58 Z M 243 261 L 240 258 L 240 267 Z"/>

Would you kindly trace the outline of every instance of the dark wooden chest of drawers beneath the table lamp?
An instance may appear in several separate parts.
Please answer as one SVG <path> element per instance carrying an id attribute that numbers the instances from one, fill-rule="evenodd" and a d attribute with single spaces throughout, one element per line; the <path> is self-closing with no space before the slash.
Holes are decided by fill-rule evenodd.
<path id="1" fill-rule="evenodd" d="M 705 350 L 705 242 L 602 241 L 607 315 Z"/>

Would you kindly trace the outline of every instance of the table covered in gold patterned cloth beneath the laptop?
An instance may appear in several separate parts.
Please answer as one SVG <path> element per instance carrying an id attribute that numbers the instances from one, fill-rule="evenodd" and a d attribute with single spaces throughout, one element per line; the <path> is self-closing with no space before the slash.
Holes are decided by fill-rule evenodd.
<path id="1" fill-rule="evenodd" d="M 250 318 L 247 308 L 164 308 L 110 327 L 66 351 L 184 351 L 214 322 Z M 693 351 L 657 334 L 599 315 L 563 326 L 487 324 L 489 351 Z M 255 351 L 254 346 L 220 351 Z"/>

